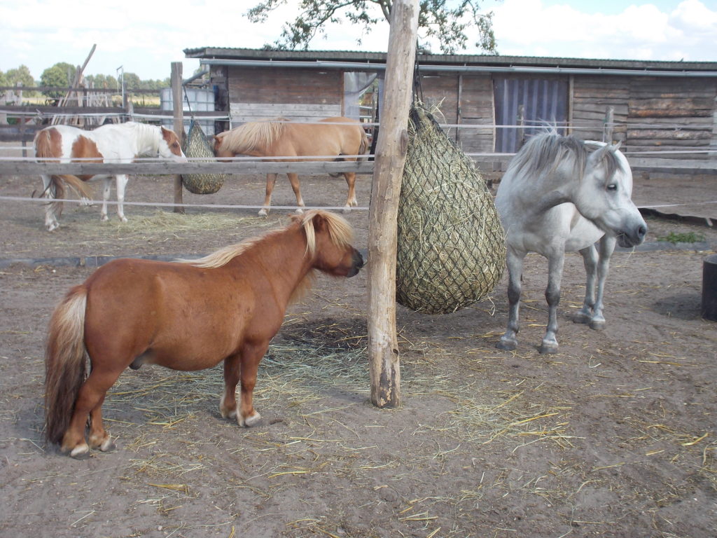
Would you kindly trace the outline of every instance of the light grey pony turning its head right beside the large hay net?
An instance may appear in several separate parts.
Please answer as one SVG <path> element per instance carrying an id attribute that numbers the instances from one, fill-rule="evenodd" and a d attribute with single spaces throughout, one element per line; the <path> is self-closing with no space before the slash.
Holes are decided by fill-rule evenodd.
<path id="1" fill-rule="evenodd" d="M 528 140 L 505 171 L 495 206 L 507 235 L 510 311 L 498 348 L 518 345 L 523 258 L 528 252 L 545 256 L 549 265 L 549 316 L 541 353 L 558 350 L 557 309 L 566 251 L 579 250 L 587 272 L 585 301 L 576 321 L 604 328 L 604 283 L 615 242 L 632 247 L 647 233 L 630 198 L 632 171 L 618 146 L 542 133 Z"/>

